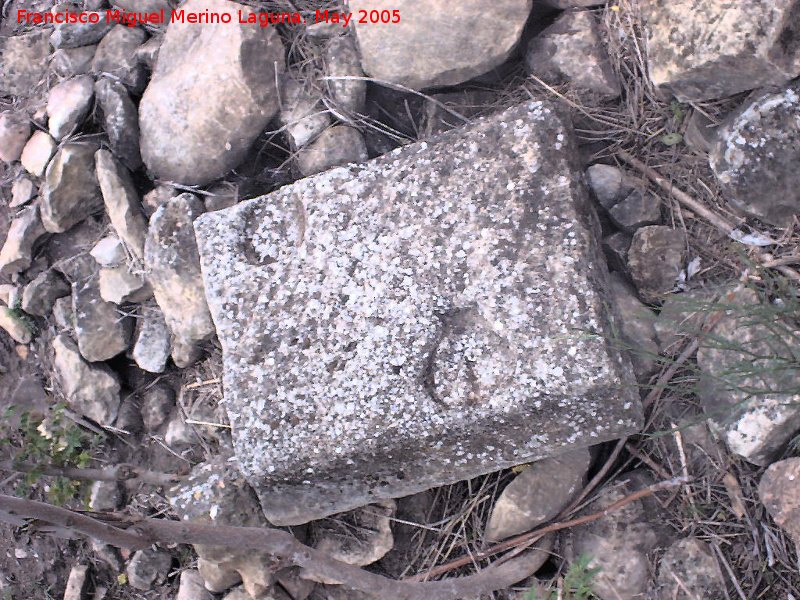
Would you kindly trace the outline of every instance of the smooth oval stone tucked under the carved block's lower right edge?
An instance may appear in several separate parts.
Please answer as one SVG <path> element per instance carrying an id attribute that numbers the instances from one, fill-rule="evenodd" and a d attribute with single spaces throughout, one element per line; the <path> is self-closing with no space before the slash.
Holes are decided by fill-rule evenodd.
<path id="1" fill-rule="evenodd" d="M 528 465 L 495 502 L 486 540 L 525 533 L 558 515 L 583 489 L 591 462 L 589 450 L 581 448 Z"/>

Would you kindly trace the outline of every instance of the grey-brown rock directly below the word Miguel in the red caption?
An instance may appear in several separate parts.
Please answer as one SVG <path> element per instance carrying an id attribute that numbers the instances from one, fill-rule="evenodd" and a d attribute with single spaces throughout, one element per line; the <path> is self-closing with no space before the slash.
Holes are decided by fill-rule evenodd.
<path id="1" fill-rule="evenodd" d="M 132 93 L 141 94 L 147 84 L 147 72 L 136 57 L 136 50 L 146 39 L 144 29 L 115 25 L 97 45 L 92 72 L 96 76 L 108 75 Z"/>

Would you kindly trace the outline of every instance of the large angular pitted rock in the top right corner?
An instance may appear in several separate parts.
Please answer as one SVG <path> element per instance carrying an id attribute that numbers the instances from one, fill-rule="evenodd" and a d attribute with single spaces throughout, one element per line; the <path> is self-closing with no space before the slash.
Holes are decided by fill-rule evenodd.
<path id="1" fill-rule="evenodd" d="M 681 101 L 724 98 L 800 75 L 800 2 L 652 0 L 650 79 Z"/>

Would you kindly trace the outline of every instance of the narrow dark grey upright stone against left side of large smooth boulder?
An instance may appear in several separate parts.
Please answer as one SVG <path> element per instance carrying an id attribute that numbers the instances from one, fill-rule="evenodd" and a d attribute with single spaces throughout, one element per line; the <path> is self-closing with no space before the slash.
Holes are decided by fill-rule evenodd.
<path id="1" fill-rule="evenodd" d="M 139 153 L 139 113 L 125 86 L 106 77 L 94 84 L 100 122 L 108 135 L 111 151 L 129 169 L 142 166 Z"/>

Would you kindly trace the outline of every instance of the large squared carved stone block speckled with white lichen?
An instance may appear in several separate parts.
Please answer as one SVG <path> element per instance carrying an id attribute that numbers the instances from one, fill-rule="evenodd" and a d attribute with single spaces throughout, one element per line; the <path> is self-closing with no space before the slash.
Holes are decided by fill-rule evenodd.
<path id="1" fill-rule="evenodd" d="M 270 521 L 639 428 L 576 155 L 534 101 L 195 221 L 234 448 Z"/>

